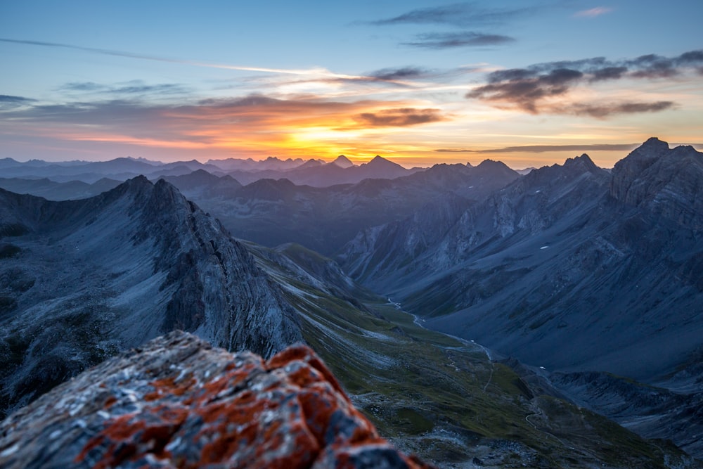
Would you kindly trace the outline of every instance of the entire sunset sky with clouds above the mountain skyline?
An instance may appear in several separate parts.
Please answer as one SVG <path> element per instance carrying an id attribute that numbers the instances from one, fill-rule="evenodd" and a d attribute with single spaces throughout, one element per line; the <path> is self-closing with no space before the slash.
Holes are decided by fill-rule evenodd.
<path id="1" fill-rule="evenodd" d="M 703 148 L 702 0 L 0 1 L 0 158 Z"/>

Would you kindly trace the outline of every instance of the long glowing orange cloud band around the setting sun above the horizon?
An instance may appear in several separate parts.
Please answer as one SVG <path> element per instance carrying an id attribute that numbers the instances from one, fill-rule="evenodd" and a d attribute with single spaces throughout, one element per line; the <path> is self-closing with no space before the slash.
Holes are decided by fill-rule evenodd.
<path id="1" fill-rule="evenodd" d="M 410 101 L 328 101 L 250 95 L 186 105 L 113 100 L 34 105 L 2 113 L 17 134 L 150 148 L 328 156 L 380 147 L 387 132 L 449 120 Z"/>

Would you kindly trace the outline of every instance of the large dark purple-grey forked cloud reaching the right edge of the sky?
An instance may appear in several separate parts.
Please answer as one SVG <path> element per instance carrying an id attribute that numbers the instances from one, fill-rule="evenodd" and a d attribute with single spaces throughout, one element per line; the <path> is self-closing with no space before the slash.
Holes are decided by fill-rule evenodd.
<path id="1" fill-rule="evenodd" d="M 578 103 L 568 98 L 577 86 L 620 79 L 657 79 L 701 73 L 703 51 L 690 51 L 666 58 L 650 54 L 629 60 L 603 57 L 530 65 L 527 68 L 497 70 L 486 84 L 466 94 L 501 108 L 515 108 L 531 114 L 554 113 L 605 118 L 617 114 L 652 113 L 673 108 L 672 101 L 622 101 Z"/>

